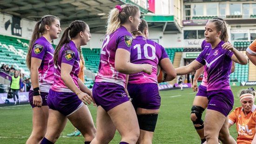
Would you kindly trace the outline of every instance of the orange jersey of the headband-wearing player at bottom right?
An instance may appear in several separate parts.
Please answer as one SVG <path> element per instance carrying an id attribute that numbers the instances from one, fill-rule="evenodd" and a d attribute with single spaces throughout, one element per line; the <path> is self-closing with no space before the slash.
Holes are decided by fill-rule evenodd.
<path id="1" fill-rule="evenodd" d="M 250 144 L 256 133 L 256 105 L 253 105 L 252 110 L 248 115 L 243 113 L 242 107 L 237 107 L 229 114 L 229 124 L 236 123 L 237 144 Z"/>

